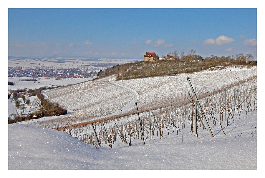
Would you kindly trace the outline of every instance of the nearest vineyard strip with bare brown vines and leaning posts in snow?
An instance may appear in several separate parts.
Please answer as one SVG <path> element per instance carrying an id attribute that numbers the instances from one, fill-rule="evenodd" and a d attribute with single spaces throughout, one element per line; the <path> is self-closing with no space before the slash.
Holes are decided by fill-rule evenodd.
<path id="1" fill-rule="evenodd" d="M 193 94 L 191 97 L 195 102 Z M 256 75 L 225 85 L 217 92 L 206 93 L 199 103 L 200 107 L 197 105 L 196 109 L 189 99 L 187 103 L 150 109 L 139 116 L 131 114 L 93 122 L 94 125 L 79 124 L 58 130 L 87 144 L 110 148 L 160 144 L 165 141 L 178 144 L 183 139 L 194 143 L 217 138 L 241 138 L 242 134 L 244 137 L 253 137 L 256 134 L 256 119 L 249 120 L 249 113 L 257 109 Z M 160 104 L 157 103 L 158 106 Z M 47 128 L 40 122 L 32 125 Z M 248 129 L 244 130 L 244 125 Z M 236 133 L 231 134 L 235 129 Z"/>

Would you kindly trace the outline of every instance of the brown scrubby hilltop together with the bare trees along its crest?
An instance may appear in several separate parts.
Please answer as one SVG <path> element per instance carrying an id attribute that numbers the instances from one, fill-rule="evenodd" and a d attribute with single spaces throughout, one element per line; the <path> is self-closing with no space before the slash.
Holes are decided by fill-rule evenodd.
<path id="1" fill-rule="evenodd" d="M 165 59 L 155 62 L 135 61 L 126 64 L 117 64 L 97 74 L 98 78 L 115 74 L 116 80 L 127 80 L 135 78 L 168 76 L 180 73 L 193 73 L 206 70 L 216 66 L 256 66 L 257 61 L 251 54 L 243 55 L 242 53 L 232 56 L 214 56 L 203 58 L 196 54 L 195 49 L 189 50 L 187 55 L 178 51 L 169 52 L 167 55 L 173 56 L 174 59 Z M 161 58 L 160 58 L 161 59 Z"/>

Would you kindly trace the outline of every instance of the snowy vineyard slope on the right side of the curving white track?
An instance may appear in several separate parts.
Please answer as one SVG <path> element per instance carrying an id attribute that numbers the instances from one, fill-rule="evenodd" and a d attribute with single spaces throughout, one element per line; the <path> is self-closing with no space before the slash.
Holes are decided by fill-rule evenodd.
<path id="1" fill-rule="evenodd" d="M 219 68 L 217 68 L 219 69 Z M 143 79 L 131 79 L 115 81 L 115 83 L 134 89 L 139 94 L 138 103 L 140 107 L 166 106 L 185 102 L 191 88 L 187 81 L 187 76 L 197 88 L 198 96 L 202 96 L 207 91 L 216 90 L 222 86 L 236 83 L 255 75 L 256 67 L 246 68 L 223 68 L 222 70 L 206 70 L 194 74 L 179 74 L 177 76 L 160 76 Z M 135 110 L 135 108 L 132 108 Z"/>

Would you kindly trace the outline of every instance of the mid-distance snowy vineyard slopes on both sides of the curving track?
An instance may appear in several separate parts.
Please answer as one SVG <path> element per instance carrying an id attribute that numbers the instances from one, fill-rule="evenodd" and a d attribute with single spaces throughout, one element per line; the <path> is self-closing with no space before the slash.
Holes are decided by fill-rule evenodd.
<path id="1" fill-rule="evenodd" d="M 150 109 L 158 109 L 175 104 L 189 102 L 188 92 L 191 88 L 187 82 L 190 78 L 193 87 L 197 88 L 197 96 L 205 97 L 208 92 L 213 92 L 222 86 L 239 82 L 256 75 L 256 67 L 226 68 L 219 70 L 207 70 L 194 74 L 179 74 L 177 76 L 160 76 L 142 79 L 114 81 L 115 84 L 130 88 L 138 94 L 138 109 L 140 112 Z M 133 96 L 127 89 L 111 84 L 114 76 L 101 78 L 95 81 L 53 89 L 45 92 L 52 102 L 57 102 L 73 112 L 75 119 L 71 124 L 87 122 L 95 119 L 115 115 L 123 107 L 132 102 Z M 135 112 L 135 107 L 121 113 Z M 117 114 L 118 115 L 118 114 Z M 66 123 L 68 117 L 65 117 Z M 41 123 L 39 123 L 41 124 Z M 43 123 L 44 124 L 44 123 Z M 49 126 L 51 124 L 49 123 Z M 59 124 L 52 128 L 59 127 Z"/>

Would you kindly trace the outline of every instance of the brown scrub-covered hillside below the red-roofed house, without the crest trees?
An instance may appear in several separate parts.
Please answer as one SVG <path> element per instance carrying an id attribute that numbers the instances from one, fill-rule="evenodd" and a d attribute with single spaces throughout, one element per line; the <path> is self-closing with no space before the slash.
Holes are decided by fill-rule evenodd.
<path id="1" fill-rule="evenodd" d="M 238 61 L 230 59 L 206 60 L 158 60 L 157 62 L 135 61 L 117 64 L 100 71 L 99 78 L 116 74 L 116 80 L 126 80 L 153 76 L 168 76 L 179 73 L 193 73 L 215 66 L 256 66 L 256 61 Z"/>

